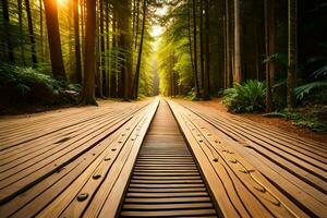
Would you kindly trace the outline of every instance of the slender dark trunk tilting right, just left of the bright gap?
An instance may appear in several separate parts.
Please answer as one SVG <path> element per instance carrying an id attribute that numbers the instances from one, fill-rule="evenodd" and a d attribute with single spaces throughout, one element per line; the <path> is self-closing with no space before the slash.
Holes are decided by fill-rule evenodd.
<path id="1" fill-rule="evenodd" d="M 146 22 L 146 5 L 147 0 L 143 1 L 143 21 L 142 21 L 142 32 L 141 32 L 141 40 L 140 40 L 140 48 L 138 48 L 138 57 L 136 63 L 136 71 L 135 71 L 135 80 L 134 80 L 134 98 L 136 99 L 138 96 L 138 81 L 140 81 L 140 71 L 141 71 L 141 62 L 142 62 L 142 51 L 143 51 L 143 41 L 144 41 L 144 33 L 145 33 L 145 22 Z"/>

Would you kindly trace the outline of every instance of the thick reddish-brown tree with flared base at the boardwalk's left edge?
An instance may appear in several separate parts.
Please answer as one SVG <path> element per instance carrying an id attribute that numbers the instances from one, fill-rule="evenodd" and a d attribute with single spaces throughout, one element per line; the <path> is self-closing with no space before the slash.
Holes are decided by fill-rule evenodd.
<path id="1" fill-rule="evenodd" d="M 94 0 L 86 0 L 86 29 L 85 29 L 85 64 L 84 88 L 82 104 L 97 105 L 95 99 L 95 47 L 96 47 L 96 4 Z"/>

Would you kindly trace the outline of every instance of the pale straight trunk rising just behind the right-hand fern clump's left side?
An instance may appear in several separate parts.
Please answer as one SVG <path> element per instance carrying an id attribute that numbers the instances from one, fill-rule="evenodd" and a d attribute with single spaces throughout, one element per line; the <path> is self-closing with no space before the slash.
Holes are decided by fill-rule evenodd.
<path id="1" fill-rule="evenodd" d="M 234 0 L 234 72 L 233 81 L 242 82 L 242 63 L 241 63 L 241 9 L 240 0 Z"/>

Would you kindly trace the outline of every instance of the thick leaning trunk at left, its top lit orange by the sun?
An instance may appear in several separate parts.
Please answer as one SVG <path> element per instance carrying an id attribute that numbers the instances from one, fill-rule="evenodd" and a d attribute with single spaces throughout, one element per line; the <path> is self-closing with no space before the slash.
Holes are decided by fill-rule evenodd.
<path id="1" fill-rule="evenodd" d="M 66 80 L 61 52 L 57 1 L 44 0 L 44 2 L 52 74 L 58 80 Z"/>

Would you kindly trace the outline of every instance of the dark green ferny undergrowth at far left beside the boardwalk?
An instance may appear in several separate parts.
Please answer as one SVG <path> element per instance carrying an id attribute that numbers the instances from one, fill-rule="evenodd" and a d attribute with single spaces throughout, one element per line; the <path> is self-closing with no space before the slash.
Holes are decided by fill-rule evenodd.
<path id="1" fill-rule="evenodd" d="M 37 69 L 0 64 L 0 95 L 4 101 L 58 104 L 76 100 L 71 98 L 71 94 L 76 97 L 80 89 L 77 85 L 68 86 Z M 11 95 L 5 95 L 8 93 Z"/>

